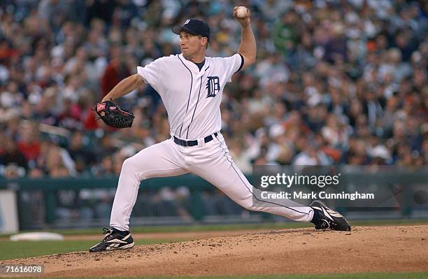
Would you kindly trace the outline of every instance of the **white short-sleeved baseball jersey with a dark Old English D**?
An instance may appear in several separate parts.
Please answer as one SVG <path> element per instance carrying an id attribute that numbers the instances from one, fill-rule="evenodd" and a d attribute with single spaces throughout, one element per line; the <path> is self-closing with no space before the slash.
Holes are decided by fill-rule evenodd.
<path id="1" fill-rule="evenodd" d="M 180 55 L 161 57 L 137 73 L 159 93 L 168 113 L 172 136 L 187 140 L 220 131 L 220 103 L 224 85 L 243 66 L 239 54 L 205 57 L 201 71 Z"/>

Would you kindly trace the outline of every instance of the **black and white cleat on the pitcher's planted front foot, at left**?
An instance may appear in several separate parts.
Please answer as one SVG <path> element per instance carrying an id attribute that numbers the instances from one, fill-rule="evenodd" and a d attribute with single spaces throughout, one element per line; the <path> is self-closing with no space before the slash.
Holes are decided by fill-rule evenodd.
<path id="1" fill-rule="evenodd" d="M 103 228 L 103 240 L 92 246 L 90 252 L 103 252 L 117 249 L 127 249 L 134 247 L 134 239 L 132 239 L 129 231 L 120 231 L 118 229 Z"/>

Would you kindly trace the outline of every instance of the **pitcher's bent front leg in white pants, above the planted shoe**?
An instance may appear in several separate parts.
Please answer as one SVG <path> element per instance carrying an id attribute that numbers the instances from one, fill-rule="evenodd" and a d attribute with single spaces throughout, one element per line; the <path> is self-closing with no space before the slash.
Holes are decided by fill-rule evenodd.
<path id="1" fill-rule="evenodd" d="M 180 166 L 180 157 L 171 141 L 163 141 L 124 160 L 110 215 L 110 227 L 129 230 L 129 217 L 134 208 L 141 180 L 179 176 L 187 173 Z"/>

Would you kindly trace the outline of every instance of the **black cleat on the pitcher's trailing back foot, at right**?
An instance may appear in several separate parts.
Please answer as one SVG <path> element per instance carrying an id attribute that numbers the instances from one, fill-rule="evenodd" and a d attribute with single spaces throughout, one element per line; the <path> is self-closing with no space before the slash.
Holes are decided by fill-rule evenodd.
<path id="1" fill-rule="evenodd" d="M 328 208 L 321 201 L 313 201 L 310 206 L 314 210 L 311 222 L 315 224 L 315 229 L 350 231 L 350 224 L 341 213 Z"/>

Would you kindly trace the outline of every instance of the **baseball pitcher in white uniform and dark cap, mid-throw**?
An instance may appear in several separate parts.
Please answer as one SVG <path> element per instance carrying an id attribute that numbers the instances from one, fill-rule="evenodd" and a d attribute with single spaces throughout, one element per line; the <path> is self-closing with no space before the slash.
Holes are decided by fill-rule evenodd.
<path id="1" fill-rule="evenodd" d="M 311 206 L 294 201 L 287 201 L 283 206 L 271 206 L 269 202 L 253 205 L 252 185 L 236 167 L 220 132 L 220 103 L 224 86 L 234 73 L 253 64 L 256 58 L 250 10 L 245 8 L 243 15 L 242 11 L 240 15 L 237 12 L 238 7 L 235 7 L 234 18 L 241 24 L 241 45 L 235 55 L 206 57 L 206 48 L 211 40 L 210 28 L 201 20 L 188 19 L 172 28 L 173 33 L 180 36 L 179 55 L 161 57 L 147 66 L 138 66 L 136 74 L 118 83 L 102 100 L 101 103 L 117 99 L 142 83 L 152 85 L 168 112 L 171 138 L 124 161 L 113 201 L 110 229 L 104 229 L 106 236 L 90 248 L 90 252 L 133 247 L 129 217 L 141 180 L 184 173 L 204 178 L 248 210 L 278 214 L 299 222 L 313 222 L 315 229 L 350 230 L 350 225 L 340 213 L 319 202 Z"/>

